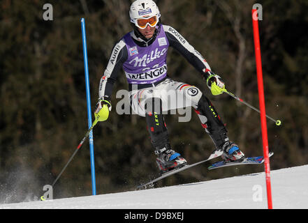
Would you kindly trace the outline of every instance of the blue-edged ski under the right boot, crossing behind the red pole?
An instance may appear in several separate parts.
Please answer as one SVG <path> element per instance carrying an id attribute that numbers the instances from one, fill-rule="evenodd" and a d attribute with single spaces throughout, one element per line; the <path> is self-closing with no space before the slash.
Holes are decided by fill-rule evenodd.
<path id="1" fill-rule="evenodd" d="M 268 157 L 271 157 L 273 154 L 274 154 L 273 152 L 270 152 L 268 154 Z M 264 162 L 264 157 L 263 157 L 263 155 L 261 155 L 261 156 L 255 156 L 255 157 L 247 157 L 247 158 L 244 158 L 244 160 L 242 160 L 240 162 L 237 162 L 237 161 L 215 162 L 214 164 L 210 165 L 210 167 L 207 167 L 207 169 L 217 169 L 217 168 L 220 168 L 220 167 L 230 167 L 230 166 L 243 165 L 243 164 L 262 164 L 263 162 Z"/>

